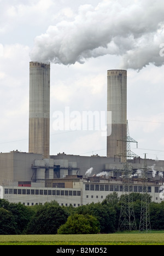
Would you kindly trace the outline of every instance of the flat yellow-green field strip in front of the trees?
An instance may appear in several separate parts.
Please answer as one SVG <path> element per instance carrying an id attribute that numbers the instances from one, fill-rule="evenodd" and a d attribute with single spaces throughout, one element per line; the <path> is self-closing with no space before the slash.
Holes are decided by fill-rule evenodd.
<path id="1" fill-rule="evenodd" d="M 164 245 L 164 233 L 1 235 L 0 245 Z"/>

